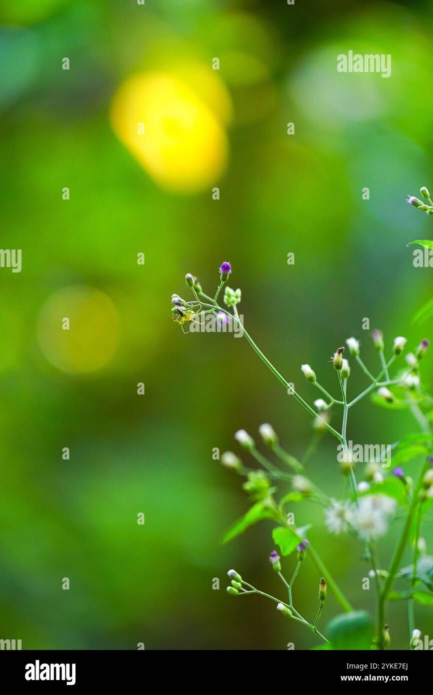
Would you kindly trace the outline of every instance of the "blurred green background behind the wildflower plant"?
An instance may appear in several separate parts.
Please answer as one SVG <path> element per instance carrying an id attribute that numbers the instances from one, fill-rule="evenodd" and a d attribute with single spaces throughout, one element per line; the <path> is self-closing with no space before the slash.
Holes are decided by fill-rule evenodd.
<path id="1" fill-rule="evenodd" d="M 411 349 L 433 338 L 412 322 L 432 271 L 415 269 L 406 247 L 431 238 L 433 223 L 405 205 L 433 186 L 433 3 L 1 0 L 0 15 L 1 245 L 21 248 L 23 264 L 0 270 L 0 637 L 44 649 L 311 648 L 311 633 L 289 629 L 265 599 L 227 596 L 231 566 L 263 591 L 281 587 L 271 523 L 220 543 L 248 502 L 212 459 L 262 422 L 301 457 L 311 420 L 245 340 L 183 335 L 170 295 L 186 295 L 186 272 L 212 293 L 230 261 L 245 327 L 309 402 L 318 393 L 300 364 L 335 391 L 327 360 L 349 336 L 376 370 L 364 317 L 388 352 L 396 335 Z M 338 74 L 350 49 L 391 54 L 391 77 Z M 181 79 L 199 123 L 206 113 L 212 124 L 197 139 L 192 130 L 185 172 L 170 158 L 147 166 L 125 144 L 131 95 L 113 122 L 125 81 L 155 72 Z M 224 150 L 219 164 L 212 148 Z M 355 394 L 366 382 L 352 371 Z M 364 401 L 350 415 L 354 442 L 416 431 L 406 412 Z M 332 437 L 310 473 L 338 491 Z M 373 610 L 359 548 L 330 539 L 312 505 L 297 523 L 313 524 L 354 606 Z M 432 553 L 428 517 L 423 536 Z M 295 600 L 310 617 L 317 590 L 306 563 Z M 323 623 L 336 612 L 329 595 Z M 433 635 L 432 616 L 418 607 L 416 628 Z M 405 608 L 391 607 L 389 622 L 392 646 L 405 648 Z"/>

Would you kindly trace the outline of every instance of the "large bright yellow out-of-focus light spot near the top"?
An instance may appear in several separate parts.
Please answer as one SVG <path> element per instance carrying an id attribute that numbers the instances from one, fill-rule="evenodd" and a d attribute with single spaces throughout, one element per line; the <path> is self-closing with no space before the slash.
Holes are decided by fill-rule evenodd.
<path id="1" fill-rule="evenodd" d="M 227 136 L 218 116 L 177 76 L 147 72 L 126 79 L 113 99 L 111 123 L 167 190 L 203 190 L 218 181 L 227 165 Z"/>

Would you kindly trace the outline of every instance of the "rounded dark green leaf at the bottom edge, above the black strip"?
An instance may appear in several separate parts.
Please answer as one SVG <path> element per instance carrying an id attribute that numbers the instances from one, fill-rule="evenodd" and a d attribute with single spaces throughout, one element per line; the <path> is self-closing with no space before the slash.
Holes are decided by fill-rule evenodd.
<path id="1" fill-rule="evenodd" d="M 363 610 L 342 613 L 328 624 L 327 634 L 334 649 L 370 649 L 373 619 Z"/>

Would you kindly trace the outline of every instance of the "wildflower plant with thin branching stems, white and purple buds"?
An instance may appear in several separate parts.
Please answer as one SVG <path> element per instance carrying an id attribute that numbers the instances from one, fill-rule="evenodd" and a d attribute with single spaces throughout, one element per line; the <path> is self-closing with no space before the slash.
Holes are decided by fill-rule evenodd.
<path id="1" fill-rule="evenodd" d="M 430 196 L 428 199 L 433 209 Z M 379 363 L 374 375 L 361 358 L 359 340 L 347 338 L 345 345 L 337 347 L 330 359 L 336 378 L 336 393 L 329 393 L 320 384 L 316 371 L 311 366 L 300 366 L 309 389 L 318 391 L 320 395 L 311 406 L 265 357 L 240 322 L 240 290 L 226 286 L 224 306 L 218 303 L 218 297 L 231 272 L 230 263 L 222 263 L 219 269 L 220 281 L 213 297 L 206 295 L 199 281 L 188 273 L 186 284 L 193 293 L 193 299 L 186 301 L 181 300 L 179 295 L 173 295 L 174 318 L 182 327 L 209 314 L 213 315 L 215 322 L 223 316 L 238 325 L 247 343 L 265 366 L 313 418 L 314 434 L 313 442 L 301 461 L 281 445 L 277 433 L 269 423 L 263 423 L 259 427 L 259 437 L 266 454 L 246 430 L 240 429 L 234 434 L 243 457 L 248 457 L 254 466 L 251 463 L 244 464 L 243 459 L 234 452 L 222 454 L 222 465 L 245 478 L 243 489 L 252 502 L 247 513 L 229 528 L 223 540 L 231 541 L 259 521 L 272 521 L 275 524 L 272 542 L 279 550 L 272 550 L 269 564 L 281 580 L 281 595 L 272 596 L 257 589 L 243 579 L 238 571 L 231 569 L 228 572 L 230 583 L 227 593 L 234 597 L 256 594 L 273 601 L 285 619 L 302 623 L 311 631 L 319 643 L 315 648 L 326 649 L 388 648 L 391 644 L 392 625 L 386 622 L 386 607 L 390 600 L 407 603 L 407 646 L 409 649 L 414 648 L 414 635 L 419 632 L 415 624 L 416 604 L 433 605 L 433 557 L 427 555 L 425 541 L 421 537 L 425 515 L 433 505 L 433 397 L 425 391 L 420 375 L 420 362 L 427 353 L 429 341 L 420 341 L 414 352 L 409 352 L 405 359 L 402 353 L 405 351 L 406 338 L 396 337 L 389 348 L 382 332 L 374 330 L 371 337 Z M 354 366 L 362 370 L 367 385 L 361 393 L 350 395 L 350 374 Z M 391 368 L 395 367 L 397 370 L 391 375 Z M 414 418 L 417 431 L 405 434 L 389 446 L 393 455 L 392 469 L 384 461 L 370 461 L 363 468 L 362 480 L 357 480 L 357 458 L 348 446 L 348 423 L 352 409 L 368 396 L 374 405 L 391 410 L 407 409 Z M 329 497 L 309 476 L 309 461 L 324 434 L 336 439 L 337 450 L 341 454 L 337 460 L 342 475 L 348 479 L 348 491 L 342 492 L 340 496 Z M 409 466 L 413 459 L 420 456 L 423 457 L 423 463 L 416 476 L 411 473 Z M 281 493 L 281 485 L 288 489 Z M 343 487 L 343 491 L 344 489 Z M 293 523 L 293 505 L 305 500 L 322 507 L 323 523 L 332 537 L 350 534 L 359 544 L 361 557 L 370 566 L 369 577 L 375 587 L 375 608 L 371 612 L 354 610 L 325 566 L 315 543 L 309 538 L 311 525 L 299 527 Z M 399 519 L 403 520 L 400 538 L 393 549 L 391 563 L 384 567 L 379 558 L 377 541 L 385 537 L 390 525 Z M 413 562 L 401 568 L 407 548 L 412 554 Z M 286 573 L 290 562 L 288 557 L 291 555 L 296 557 L 296 562 L 289 577 Z M 318 582 L 316 608 L 309 616 L 300 614 L 293 597 L 295 580 L 302 573 L 306 560 L 316 567 Z M 400 593 L 393 591 L 396 579 L 405 581 L 405 590 Z M 424 587 L 424 590 L 420 587 Z M 343 614 L 334 616 L 327 628 L 319 629 L 322 613 L 324 610 L 326 612 L 324 606 L 328 590 L 334 594 Z"/>

